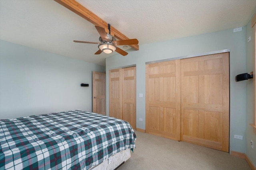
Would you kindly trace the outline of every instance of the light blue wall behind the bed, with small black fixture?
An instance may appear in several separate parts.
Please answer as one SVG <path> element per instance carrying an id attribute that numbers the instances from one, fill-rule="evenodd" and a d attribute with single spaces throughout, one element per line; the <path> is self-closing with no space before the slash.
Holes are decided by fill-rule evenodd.
<path id="1" fill-rule="evenodd" d="M 1 40 L 0 119 L 92 111 L 92 71 L 105 67 Z"/>

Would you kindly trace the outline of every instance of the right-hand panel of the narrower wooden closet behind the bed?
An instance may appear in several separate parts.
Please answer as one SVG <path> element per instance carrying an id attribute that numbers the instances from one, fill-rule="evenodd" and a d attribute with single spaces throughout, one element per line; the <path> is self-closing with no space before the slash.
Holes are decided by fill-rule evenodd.
<path id="1" fill-rule="evenodd" d="M 136 129 L 136 66 L 122 68 L 123 120 Z"/>

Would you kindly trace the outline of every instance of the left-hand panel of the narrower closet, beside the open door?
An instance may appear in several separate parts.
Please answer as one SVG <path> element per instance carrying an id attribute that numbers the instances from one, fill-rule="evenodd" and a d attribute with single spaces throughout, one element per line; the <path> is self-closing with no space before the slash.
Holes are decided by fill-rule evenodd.
<path id="1" fill-rule="evenodd" d="M 109 116 L 122 119 L 122 68 L 109 70 Z"/>

